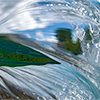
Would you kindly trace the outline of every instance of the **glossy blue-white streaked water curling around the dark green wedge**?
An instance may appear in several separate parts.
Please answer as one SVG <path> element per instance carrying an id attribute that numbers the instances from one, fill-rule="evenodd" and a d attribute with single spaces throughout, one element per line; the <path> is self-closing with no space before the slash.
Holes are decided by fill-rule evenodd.
<path id="1" fill-rule="evenodd" d="M 0 99 L 100 99 L 99 0 L 1 0 L 0 33 L 61 63 L 1 66 Z"/>

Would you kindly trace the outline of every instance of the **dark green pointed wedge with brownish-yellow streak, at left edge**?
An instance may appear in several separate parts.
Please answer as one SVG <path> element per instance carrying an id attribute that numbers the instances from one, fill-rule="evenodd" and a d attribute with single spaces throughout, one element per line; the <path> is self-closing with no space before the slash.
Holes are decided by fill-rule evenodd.
<path id="1" fill-rule="evenodd" d="M 0 66 L 56 64 L 58 62 L 31 48 L 0 36 Z"/>

